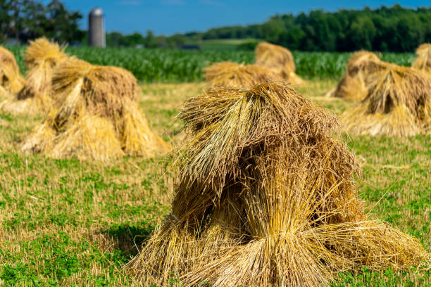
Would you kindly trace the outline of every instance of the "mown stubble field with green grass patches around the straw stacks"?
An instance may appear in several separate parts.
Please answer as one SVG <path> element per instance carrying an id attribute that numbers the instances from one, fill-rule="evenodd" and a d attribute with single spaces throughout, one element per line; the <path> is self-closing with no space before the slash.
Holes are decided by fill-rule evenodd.
<path id="1" fill-rule="evenodd" d="M 335 81 L 301 87 L 342 113 L 354 103 L 323 98 Z M 145 84 L 139 101 L 151 127 L 177 143 L 175 120 L 187 96 L 204 84 Z M 170 212 L 173 171 L 163 158 L 123 158 L 107 165 L 21 155 L 42 119 L 0 112 L 0 286 L 134 286 L 123 265 Z M 347 138 L 345 137 L 347 140 Z M 357 136 L 349 146 L 363 168 L 357 179 L 373 217 L 431 248 L 431 136 Z M 430 271 L 339 274 L 333 286 L 430 286 Z"/>

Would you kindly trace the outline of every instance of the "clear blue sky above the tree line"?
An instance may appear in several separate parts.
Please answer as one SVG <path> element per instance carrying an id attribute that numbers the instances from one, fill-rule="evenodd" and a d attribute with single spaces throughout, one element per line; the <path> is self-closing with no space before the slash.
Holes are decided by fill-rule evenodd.
<path id="1" fill-rule="evenodd" d="M 323 8 L 337 11 L 340 8 L 377 8 L 395 3 L 404 7 L 429 7 L 429 0 L 63 0 L 71 9 L 85 18 L 81 27 L 87 27 L 87 13 L 99 6 L 104 10 L 106 30 L 125 34 L 174 34 L 175 32 L 205 31 L 211 27 L 263 23 L 277 13 L 301 13 Z"/>

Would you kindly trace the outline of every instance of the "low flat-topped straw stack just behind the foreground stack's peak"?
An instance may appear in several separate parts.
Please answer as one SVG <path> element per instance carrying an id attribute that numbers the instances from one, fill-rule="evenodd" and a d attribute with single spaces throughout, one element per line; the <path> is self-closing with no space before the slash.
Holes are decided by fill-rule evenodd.
<path id="1" fill-rule="evenodd" d="M 243 87 L 244 89 L 250 89 L 256 84 L 283 80 L 268 68 L 232 62 L 215 63 L 204 68 L 204 77 L 210 87 Z"/>

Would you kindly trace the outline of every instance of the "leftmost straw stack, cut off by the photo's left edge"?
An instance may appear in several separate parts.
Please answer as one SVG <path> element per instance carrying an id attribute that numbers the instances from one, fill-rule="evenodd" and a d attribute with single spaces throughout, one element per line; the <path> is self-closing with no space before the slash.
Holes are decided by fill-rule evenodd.
<path id="1" fill-rule="evenodd" d="M 23 89 L 24 79 L 13 53 L 0 46 L 0 95 L 15 94 Z"/>

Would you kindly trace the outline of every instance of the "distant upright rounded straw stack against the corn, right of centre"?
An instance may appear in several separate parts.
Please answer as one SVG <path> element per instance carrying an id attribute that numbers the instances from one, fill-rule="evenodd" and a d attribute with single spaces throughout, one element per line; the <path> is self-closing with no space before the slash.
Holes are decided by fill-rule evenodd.
<path id="1" fill-rule="evenodd" d="M 291 84 L 306 83 L 304 79 L 295 74 L 294 58 L 286 48 L 262 42 L 256 46 L 254 52 L 256 53 L 256 65 L 273 70 L 273 72 Z"/>

